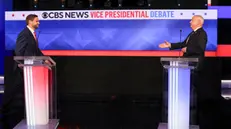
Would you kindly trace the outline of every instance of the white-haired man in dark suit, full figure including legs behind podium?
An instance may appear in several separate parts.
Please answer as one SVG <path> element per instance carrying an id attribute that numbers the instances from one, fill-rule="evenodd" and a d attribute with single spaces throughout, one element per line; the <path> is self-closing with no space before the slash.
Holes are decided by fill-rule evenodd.
<path id="1" fill-rule="evenodd" d="M 205 59 L 205 49 L 207 44 L 207 33 L 203 29 L 204 19 L 200 15 L 195 15 L 190 21 L 192 32 L 187 36 L 183 42 L 169 43 L 165 41 L 160 44 L 160 48 L 169 48 L 170 50 L 181 49 L 183 57 L 195 57 L 199 59 L 198 65 L 192 74 L 193 88 L 195 88 L 197 96 L 198 108 L 198 124 L 200 129 L 218 129 L 219 122 L 217 114 L 219 110 L 219 88 L 213 74 L 218 73 L 214 70 L 208 72 L 209 59 Z M 210 64 L 211 66 L 212 64 Z M 210 75 L 208 75 L 210 73 Z M 219 76 L 217 74 L 217 76 Z M 212 80 L 210 80 L 212 78 Z M 216 81 L 218 80 L 218 81 Z M 213 81 L 213 85 L 211 82 Z M 208 92 L 209 90 L 209 92 Z"/>

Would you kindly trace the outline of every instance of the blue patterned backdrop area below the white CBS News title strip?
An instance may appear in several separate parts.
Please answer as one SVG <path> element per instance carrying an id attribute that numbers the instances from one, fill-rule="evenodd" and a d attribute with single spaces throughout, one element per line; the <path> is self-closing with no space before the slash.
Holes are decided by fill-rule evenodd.
<path id="1" fill-rule="evenodd" d="M 40 21 L 37 32 L 43 50 L 164 50 L 164 40 L 180 41 L 192 31 L 190 20 L 53 20 Z M 6 21 L 6 49 L 12 50 L 25 21 Z M 207 50 L 216 50 L 217 21 L 206 20 Z"/>

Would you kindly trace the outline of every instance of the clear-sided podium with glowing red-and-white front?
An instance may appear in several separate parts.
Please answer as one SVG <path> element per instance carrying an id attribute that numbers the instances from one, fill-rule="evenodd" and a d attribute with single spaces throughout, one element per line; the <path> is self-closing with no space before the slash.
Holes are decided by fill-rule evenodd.
<path id="1" fill-rule="evenodd" d="M 23 69 L 26 107 L 26 118 L 14 129 L 56 129 L 56 63 L 46 56 L 15 56 L 14 60 Z"/>

